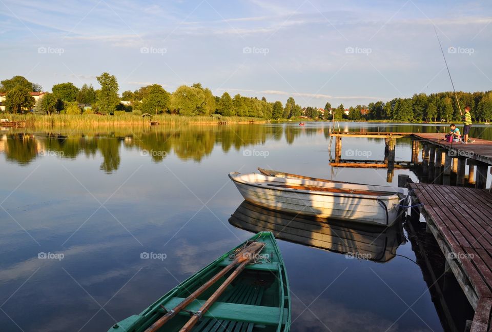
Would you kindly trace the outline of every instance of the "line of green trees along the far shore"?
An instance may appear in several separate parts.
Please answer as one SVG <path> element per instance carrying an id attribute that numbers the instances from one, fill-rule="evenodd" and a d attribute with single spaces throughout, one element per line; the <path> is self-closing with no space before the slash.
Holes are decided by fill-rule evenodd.
<path id="1" fill-rule="evenodd" d="M 487 92 L 439 92 L 419 93 L 411 98 L 395 98 L 388 102 L 378 101 L 366 105 L 344 108 L 340 104 L 332 108 L 327 102 L 324 112 L 316 107 L 301 109 L 293 97 L 285 105 L 280 101 L 268 102 L 265 97 L 231 96 L 224 92 L 215 96 L 209 88 L 200 83 L 192 86 L 181 85 L 174 92 L 168 92 L 161 85 L 152 84 L 135 91 L 118 94 L 119 85 L 114 75 L 107 72 L 97 76 L 100 85 L 94 89 L 84 84 L 81 88 L 73 83 L 60 83 L 52 87 L 35 102 L 30 92 L 41 91 L 41 86 L 29 82 L 23 76 L 0 82 L 0 92 L 5 95 L 5 108 L 10 113 L 33 110 L 35 114 L 134 114 L 171 113 L 186 116 L 220 114 L 223 116 L 250 116 L 263 119 L 299 119 L 306 116 L 320 120 L 389 120 L 397 122 L 459 121 L 459 107 L 470 106 L 472 118 L 476 121 L 492 119 L 492 91 Z M 458 107 L 458 101 L 459 107 Z M 83 104 L 83 105 L 81 105 Z M 84 107 L 84 105 L 91 107 Z"/>

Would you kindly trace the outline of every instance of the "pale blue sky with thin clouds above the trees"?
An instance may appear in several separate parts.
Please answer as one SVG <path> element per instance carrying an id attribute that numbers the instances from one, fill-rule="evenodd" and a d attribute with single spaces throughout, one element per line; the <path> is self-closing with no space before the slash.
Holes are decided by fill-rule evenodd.
<path id="1" fill-rule="evenodd" d="M 490 1 L 0 0 L 0 79 L 367 105 L 492 90 Z"/>

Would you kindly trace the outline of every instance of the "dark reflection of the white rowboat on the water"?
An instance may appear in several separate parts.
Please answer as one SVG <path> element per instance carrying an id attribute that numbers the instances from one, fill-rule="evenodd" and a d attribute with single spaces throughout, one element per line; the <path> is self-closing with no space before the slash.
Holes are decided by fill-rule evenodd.
<path id="1" fill-rule="evenodd" d="M 247 201 L 239 205 L 229 223 L 254 233 L 267 230 L 277 239 L 379 263 L 393 259 L 403 239 L 401 222 L 381 227 L 327 220 L 270 210 Z"/>

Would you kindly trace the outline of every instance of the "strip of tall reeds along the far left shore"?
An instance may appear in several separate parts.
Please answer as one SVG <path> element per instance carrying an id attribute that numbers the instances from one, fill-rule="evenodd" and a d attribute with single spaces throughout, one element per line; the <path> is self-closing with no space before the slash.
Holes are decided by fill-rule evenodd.
<path id="1" fill-rule="evenodd" d="M 176 114 L 158 114 L 152 118 L 142 118 L 136 114 L 121 115 L 95 115 L 95 114 L 54 114 L 54 115 L 34 115 L 34 114 L 2 114 L 2 118 L 10 121 L 25 121 L 27 126 L 36 125 L 135 125 L 148 126 L 150 121 L 157 121 L 159 124 L 217 124 L 227 122 L 229 124 L 265 122 L 259 118 L 245 118 L 241 116 L 222 116 L 217 119 L 212 116 L 182 116 Z"/>

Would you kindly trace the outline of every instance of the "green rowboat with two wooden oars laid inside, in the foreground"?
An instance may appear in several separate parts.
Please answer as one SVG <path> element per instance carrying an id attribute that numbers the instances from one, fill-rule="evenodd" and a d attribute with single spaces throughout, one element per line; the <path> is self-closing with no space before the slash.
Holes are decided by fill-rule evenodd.
<path id="1" fill-rule="evenodd" d="M 290 324 L 282 256 L 273 234 L 262 231 L 108 332 L 284 332 Z"/>

